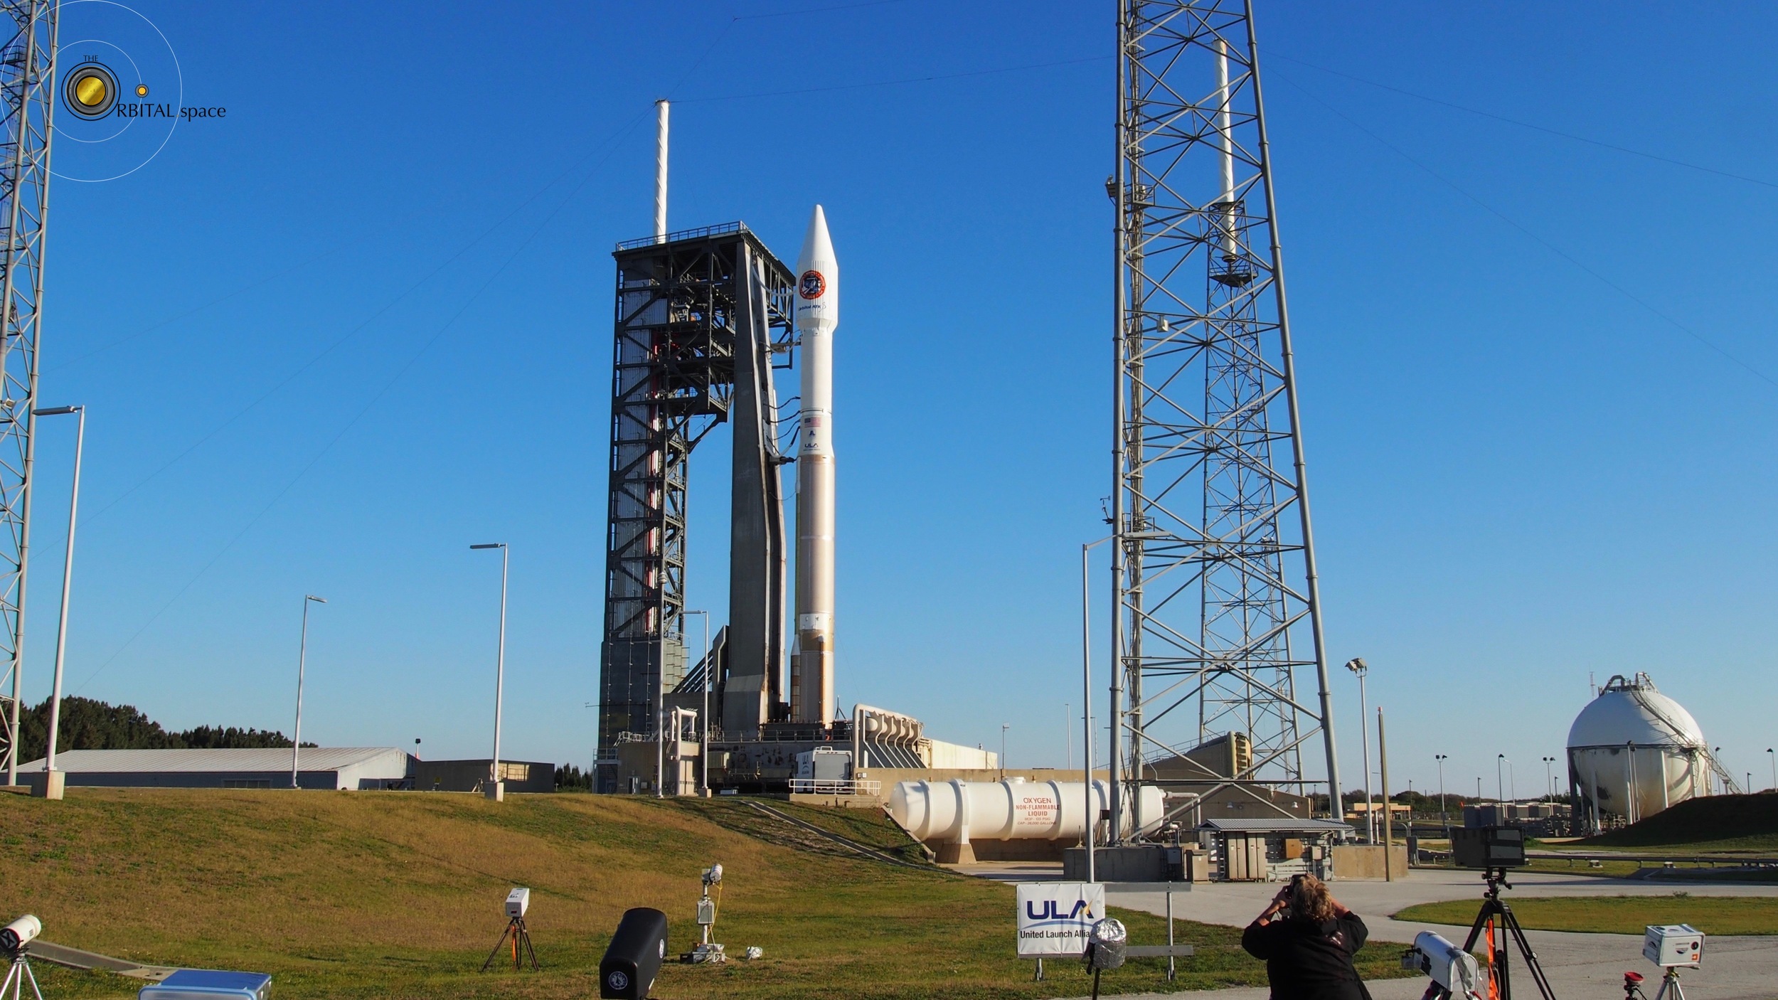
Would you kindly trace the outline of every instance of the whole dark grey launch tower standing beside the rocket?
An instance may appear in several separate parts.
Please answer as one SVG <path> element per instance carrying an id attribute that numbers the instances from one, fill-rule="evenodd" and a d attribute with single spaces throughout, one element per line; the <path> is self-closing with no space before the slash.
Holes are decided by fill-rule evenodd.
<path id="1" fill-rule="evenodd" d="M 772 368 L 779 356 L 788 367 L 795 288 L 741 222 L 628 240 L 613 256 L 601 792 L 615 790 L 617 744 L 658 738 L 663 696 L 702 690 L 706 676 L 722 706 L 711 722 L 729 735 L 757 740 L 784 712 L 786 459 Z M 722 422 L 734 429 L 729 625 L 709 662 L 688 664 L 688 459 Z"/>

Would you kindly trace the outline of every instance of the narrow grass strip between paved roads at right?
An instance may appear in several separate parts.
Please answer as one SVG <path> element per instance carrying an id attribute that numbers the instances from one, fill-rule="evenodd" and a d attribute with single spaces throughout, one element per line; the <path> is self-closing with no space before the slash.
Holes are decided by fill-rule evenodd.
<path id="1" fill-rule="evenodd" d="M 1591 931 L 1641 934 L 1650 923 L 1691 923 L 1705 934 L 1778 934 L 1774 897 L 1613 895 L 1515 897 L 1508 900 L 1518 922 L 1533 931 Z M 1456 923 L 1476 920 L 1474 900 L 1422 902 L 1396 920 Z"/>

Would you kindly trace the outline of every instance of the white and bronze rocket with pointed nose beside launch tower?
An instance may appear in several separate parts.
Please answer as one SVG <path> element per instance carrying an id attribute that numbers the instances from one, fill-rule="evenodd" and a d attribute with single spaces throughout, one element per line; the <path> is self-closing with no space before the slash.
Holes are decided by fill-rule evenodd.
<path id="1" fill-rule="evenodd" d="M 834 721 L 834 327 L 839 263 L 827 215 L 814 206 L 797 256 L 797 335 L 802 338 L 802 445 L 797 450 L 797 655 L 789 712 L 797 722 Z"/>

